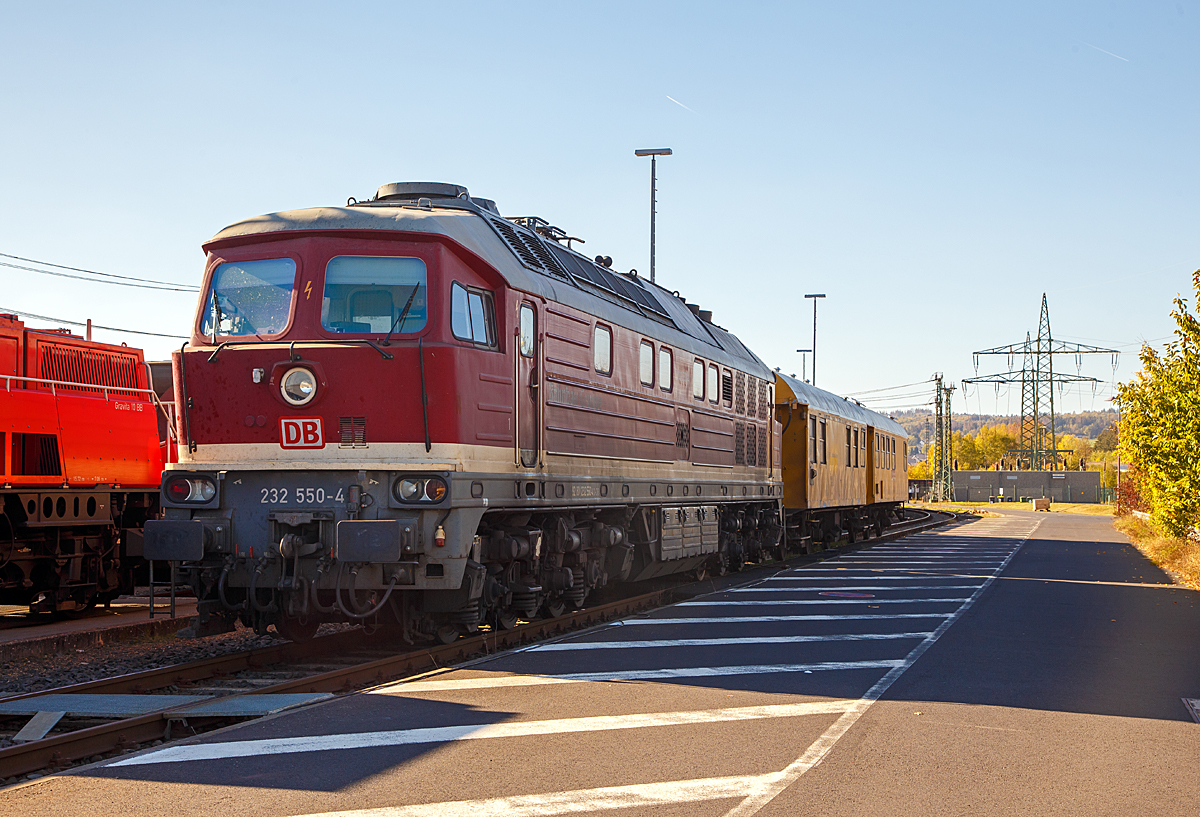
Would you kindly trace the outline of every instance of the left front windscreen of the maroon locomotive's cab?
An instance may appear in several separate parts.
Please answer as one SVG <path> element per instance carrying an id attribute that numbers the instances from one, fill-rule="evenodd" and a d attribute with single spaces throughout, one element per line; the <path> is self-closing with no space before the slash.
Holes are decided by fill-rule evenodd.
<path id="1" fill-rule="evenodd" d="M 204 335 L 278 335 L 288 325 L 296 263 L 290 258 L 228 262 L 212 272 L 200 320 Z"/>

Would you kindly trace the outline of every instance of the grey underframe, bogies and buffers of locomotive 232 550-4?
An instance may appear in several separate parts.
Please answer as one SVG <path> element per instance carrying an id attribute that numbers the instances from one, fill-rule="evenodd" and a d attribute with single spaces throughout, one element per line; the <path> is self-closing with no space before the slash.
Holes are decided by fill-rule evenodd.
<path id="1" fill-rule="evenodd" d="M 392 494 L 408 470 L 196 473 L 217 494 L 202 509 L 164 498 L 146 557 L 182 563 L 198 635 L 241 618 L 293 638 L 364 620 L 448 639 L 562 614 L 617 582 L 737 570 L 778 555 L 782 536 L 769 482 L 422 471 L 445 480 L 446 497 L 409 504 Z M 314 497 L 326 501 L 305 501 Z"/>

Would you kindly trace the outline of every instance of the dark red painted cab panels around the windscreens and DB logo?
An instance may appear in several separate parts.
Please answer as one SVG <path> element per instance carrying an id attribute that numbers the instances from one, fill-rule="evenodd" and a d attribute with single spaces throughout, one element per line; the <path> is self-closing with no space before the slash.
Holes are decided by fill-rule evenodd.
<path id="1" fill-rule="evenodd" d="M 326 446 L 338 443 L 338 417 L 366 417 L 368 443 L 424 443 L 421 421 L 420 361 L 418 337 L 425 354 L 425 384 L 428 394 L 430 437 L 438 443 L 512 445 L 511 407 L 512 362 L 505 355 L 511 344 L 512 324 L 503 314 L 503 282 L 486 265 L 461 247 L 442 244 L 440 236 L 398 235 L 396 240 L 360 238 L 340 232 L 329 235 L 290 234 L 271 241 L 256 236 L 244 241 L 209 245 L 204 287 L 208 292 L 212 270 L 224 262 L 288 257 L 295 260 L 298 284 L 293 290 L 292 323 L 277 337 L 280 342 L 344 340 L 320 325 L 320 302 L 325 265 L 335 256 L 412 256 L 425 262 L 428 272 L 426 325 L 419 332 L 394 336 L 384 360 L 366 346 L 298 347 L 299 361 L 290 361 L 287 348 L 230 347 L 216 361 L 211 337 L 199 334 L 200 318 L 191 346 L 175 353 L 175 396 L 182 400 L 180 358 L 186 364 L 186 391 L 192 400 L 185 427 L 178 411 L 181 439 L 190 432 L 198 445 L 259 443 L 278 445 L 283 417 L 320 417 Z M 445 241 L 445 239 L 440 239 Z M 454 338 L 450 332 L 450 282 L 496 292 L 499 349 L 479 349 Z M 311 287 L 310 287 L 311 284 Z M 379 341 L 378 336 L 371 336 Z M 238 342 L 239 337 L 218 337 Z M 205 347 L 205 348 L 196 348 Z M 302 407 L 292 407 L 280 396 L 277 377 L 292 366 L 308 366 L 318 379 L 317 397 Z M 254 383 L 254 368 L 264 370 Z M 500 410 L 493 410 L 500 409 Z"/>

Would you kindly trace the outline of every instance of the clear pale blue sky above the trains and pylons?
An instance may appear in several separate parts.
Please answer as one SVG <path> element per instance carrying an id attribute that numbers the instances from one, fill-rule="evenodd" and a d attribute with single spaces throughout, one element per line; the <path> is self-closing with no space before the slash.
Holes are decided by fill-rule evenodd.
<path id="1" fill-rule="evenodd" d="M 671 146 L 660 283 L 797 373 L 802 296 L 827 293 L 817 383 L 842 394 L 971 377 L 1037 332 L 1043 292 L 1056 336 L 1120 347 L 1127 379 L 1200 266 L 1195 2 L 0 8 L 4 253 L 194 284 L 235 220 L 434 180 L 644 274 L 632 154 Z M 0 293 L 166 334 L 194 308 L 6 268 Z"/>

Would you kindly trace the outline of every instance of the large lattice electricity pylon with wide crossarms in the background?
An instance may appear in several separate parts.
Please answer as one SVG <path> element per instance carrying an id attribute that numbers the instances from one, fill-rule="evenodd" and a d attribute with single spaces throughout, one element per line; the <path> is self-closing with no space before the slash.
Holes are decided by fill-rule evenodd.
<path id="1" fill-rule="evenodd" d="M 1045 293 L 1042 293 L 1042 317 L 1038 322 L 1038 337 L 1032 340 L 1030 334 L 1025 334 L 1025 343 L 1009 343 L 991 349 L 980 349 L 974 353 L 976 372 L 979 371 L 979 355 L 1008 355 L 1009 368 L 1013 365 L 1014 355 L 1024 356 L 1024 366 L 1020 371 L 1008 371 L 1002 374 L 988 374 L 985 377 L 967 378 L 968 383 L 995 383 L 1014 385 L 1021 384 L 1021 445 L 1015 451 L 1018 468 L 1024 465 L 1028 470 L 1045 470 L 1046 465 L 1057 467 L 1058 455 L 1066 451 L 1058 450 L 1058 435 L 1055 429 L 1054 410 L 1054 386 L 1061 389 L 1064 383 L 1099 383 L 1093 377 L 1081 374 L 1063 374 L 1054 371 L 1055 355 L 1075 355 L 1075 365 L 1080 366 L 1080 355 L 1093 354 L 1112 355 L 1112 366 L 1116 368 L 1117 355 L 1115 349 L 1103 349 L 1098 346 L 1086 343 L 1069 343 L 1056 341 L 1050 335 L 1050 307 L 1046 305 Z"/>

